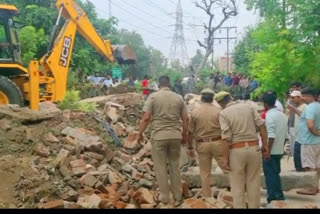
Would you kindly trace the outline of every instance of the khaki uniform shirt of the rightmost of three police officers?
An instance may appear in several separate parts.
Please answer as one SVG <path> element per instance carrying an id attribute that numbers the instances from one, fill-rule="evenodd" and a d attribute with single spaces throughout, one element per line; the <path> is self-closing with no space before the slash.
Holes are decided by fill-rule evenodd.
<path id="1" fill-rule="evenodd" d="M 232 143 L 258 140 L 264 120 L 251 105 L 231 102 L 219 115 L 221 138 Z"/>

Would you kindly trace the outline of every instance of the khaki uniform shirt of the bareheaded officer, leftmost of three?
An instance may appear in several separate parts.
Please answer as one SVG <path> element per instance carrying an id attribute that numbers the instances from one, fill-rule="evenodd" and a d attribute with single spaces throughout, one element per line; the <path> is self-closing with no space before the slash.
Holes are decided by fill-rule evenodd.
<path id="1" fill-rule="evenodd" d="M 182 139 L 181 116 L 186 106 L 180 95 L 162 88 L 148 97 L 143 111 L 152 114 L 152 140 Z"/>

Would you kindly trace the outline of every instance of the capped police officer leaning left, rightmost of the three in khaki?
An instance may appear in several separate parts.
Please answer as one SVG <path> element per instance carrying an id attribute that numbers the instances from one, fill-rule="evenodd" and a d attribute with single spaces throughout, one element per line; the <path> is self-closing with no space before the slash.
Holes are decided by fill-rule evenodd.
<path id="1" fill-rule="evenodd" d="M 230 145 L 233 207 L 247 208 L 246 201 L 248 201 L 248 208 L 260 208 L 261 151 L 265 158 L 268 156 L 264 121 L 252 106 L 234 102 L 228 92 L 219 92 L 215 100 L 223 108 L 219 115 L 221 138 Z M 261 150 L 257 127 L 263 139 Z"/>

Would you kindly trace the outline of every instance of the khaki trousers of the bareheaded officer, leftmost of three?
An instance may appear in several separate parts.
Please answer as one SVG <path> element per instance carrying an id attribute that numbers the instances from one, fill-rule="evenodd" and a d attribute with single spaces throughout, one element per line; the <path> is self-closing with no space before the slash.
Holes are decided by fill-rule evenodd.
<path id="1" fill-rule="evenodd" d="M 180 147 L 181 140 L 152 141 L 152 159 L 160 189 L 159 199 L 163 203 L 169 202 L 168 168 L 173 197 L 176 201 L 182 200 L 182 183 L 179 169 Z"/>

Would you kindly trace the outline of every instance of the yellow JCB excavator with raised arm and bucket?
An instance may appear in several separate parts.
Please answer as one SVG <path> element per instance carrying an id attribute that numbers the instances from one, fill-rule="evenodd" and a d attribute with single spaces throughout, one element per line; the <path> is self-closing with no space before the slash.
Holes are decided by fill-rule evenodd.
<path id="1" fill-rule="evenodd" d="M 39 61 L 23 66 L 20 44 L 13 17 L 18 9 L 0 4 L 0 105 L 29 103 L 33 110 L 43 101 L 57 102 L 66 94 L 67 76 L 76 32 L 79 32 L 110 62 L 134 64 L 135 52 L 129 46 L 112 46 L 102 39 L 90 23 L 86 13 L 73 0 L 57 0 L 59 10 L 47 53 Z M 61 18 L 65 19 L 59 30 Z"/>

